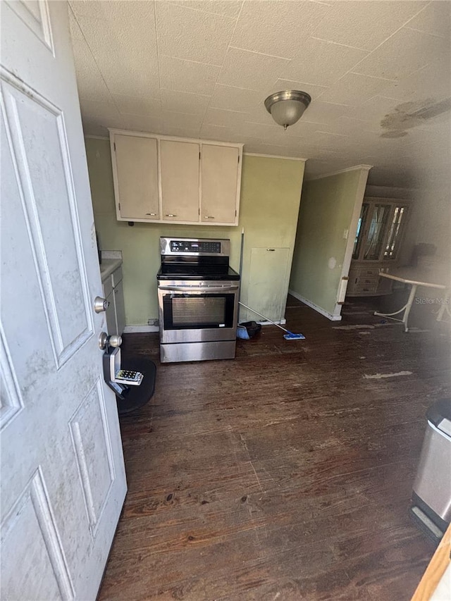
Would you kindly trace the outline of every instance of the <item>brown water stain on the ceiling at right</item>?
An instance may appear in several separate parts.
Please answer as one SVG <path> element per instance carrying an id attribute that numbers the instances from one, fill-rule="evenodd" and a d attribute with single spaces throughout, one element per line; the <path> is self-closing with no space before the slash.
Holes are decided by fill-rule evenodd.
<path id="1" fill-rule="evenodd" d="M 432 119 L 450 111 L 451 98 L 435 101 L 428 98 L 416 102 L 403 102 L 395 106 L 393 113 L 388 113 L 381 120 L 381 128 L 385 130 L 381 137 L 404 137 L 408 135 L 407 130 L 423 125 L 428 119 Z"/>

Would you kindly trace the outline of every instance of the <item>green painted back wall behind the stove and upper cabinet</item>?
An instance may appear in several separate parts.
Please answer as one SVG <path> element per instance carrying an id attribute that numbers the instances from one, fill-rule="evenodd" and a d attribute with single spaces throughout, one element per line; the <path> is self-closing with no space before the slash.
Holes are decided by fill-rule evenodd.
<path id="1" fill-rule="evenodd" d="M 302 161 L 243 157 L 240 223 L 237 227 L 160 223 L 135 223 L 130 227 L 125 221 L 116 221 L 109 140 L 87 138 L 85 143 L 94 220 L 101 248 L 123 252 L 125 320 L 128 326 L 144 325 L 149 318 L 158 317 L 156 272 L 160 264 L 160 236 L 230 238 L 230 264 L 238 271 L 244 227 L 243 300 L 246 298 L 252 247 L 293 249 L 304 175 Z"/>

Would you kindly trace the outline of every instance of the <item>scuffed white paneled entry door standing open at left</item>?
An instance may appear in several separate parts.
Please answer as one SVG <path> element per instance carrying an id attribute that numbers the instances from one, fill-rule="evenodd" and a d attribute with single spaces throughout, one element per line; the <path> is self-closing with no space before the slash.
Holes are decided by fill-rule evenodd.
<path id="1" fill-rule="evenodd" d="M 1 590 L 94 600 L 125 497 L 67 6 L 1 3 Z"/>

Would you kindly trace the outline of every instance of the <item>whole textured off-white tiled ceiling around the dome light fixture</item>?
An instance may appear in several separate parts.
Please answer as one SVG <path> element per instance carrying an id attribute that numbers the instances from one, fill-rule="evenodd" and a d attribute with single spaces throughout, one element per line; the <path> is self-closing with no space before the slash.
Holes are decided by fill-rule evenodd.
<path id="1" fill-rule="evenodd" d="M 176 23 L 168 23 L 171 32 L 180 26 L 180 15 L 189 15 L 183 25 L 192 39 L 182 51 L 189 51 L 191 58 L 193 52 L 194 56 L 206 53 L 197 54 L 195 61 L 165 56 L 161 47 L 157 52 L 152 0 L 71 1 L 76 19 L 69 13 L 70 28 L 85 131 L 107 135 L 109 126 L 243 142 L 245 151 L 311 157 L 314 161 L 307 162 L 307 173 L 363 162 L 376 165 L 376 178 L 406 180 L 421 166 L 443 168 L 450 160 L 450 111 L 417 119 L 404 137 L 382 137 L 387 128 L 381 122 L 409 107 L 433 106 L 450 97 L 450 25 L 445 3 L 432 2 L 413 16 L 412 10 L 422 4 L 409 0 L 302 1 L 289 6 L 247 0 L 242 6 L 240 0 L 158 0 L 159 13 L 178 16 Z M 214 32 L 218 39 L 210 44 L 210 51 L 205 39 L 211 39 L 211 29 L 207 31 L 204 24 L 215 27 L 221 19 L 233 22 L 241 6 L 237 36 L 242 36 L 242 44 L 261 49 L 230 47 L 221 71 L 212 63 L 218 62 L 223 32 L 218 36 Z M 280 37 L 276 50 L 270 50 L 280 24 L 269 16 L 275 15 L 277 6 L 280 23 L 287 6 L 299 18 L 296 23 L 285 22 L 285 37 Z M 302 6 L 307 12 L 301 14 Z M 259 37 L 246 25 L 252 11 L 259 19 L 259 27 L 254 27 Z M 306 21 L 300 35 L 293 33 L 309 11 L 326 11 L 314 37 L 306 35 L 310 27 Z M 412 19 L 400 31 L 369 54 L 373 44 L 410 15 Z M 172 39 L 166 36 L 168 51 L 183 47 L 187 35 L 180 31 Z M 318 39 L 326 35 L 328 41 Z M 278 58 L 281 49 L 293 47 L 297 56 L 292 61 Z M 273 52 L 277 56 L 270 56 Z M 313 97 L 304 116 L 286 131 L 264 107 L 266 96 L 281 89 L 302 89 Z"/>

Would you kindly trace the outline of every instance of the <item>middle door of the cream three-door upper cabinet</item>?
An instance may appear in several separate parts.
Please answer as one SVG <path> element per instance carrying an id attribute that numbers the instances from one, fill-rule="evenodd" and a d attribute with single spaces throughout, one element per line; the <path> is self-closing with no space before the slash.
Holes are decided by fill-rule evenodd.
<path id="1" fill-rule="evenodd" d="M 160 141 L 164 221 L 199 221 L 199 144 Z"/>

